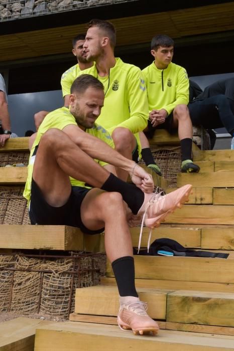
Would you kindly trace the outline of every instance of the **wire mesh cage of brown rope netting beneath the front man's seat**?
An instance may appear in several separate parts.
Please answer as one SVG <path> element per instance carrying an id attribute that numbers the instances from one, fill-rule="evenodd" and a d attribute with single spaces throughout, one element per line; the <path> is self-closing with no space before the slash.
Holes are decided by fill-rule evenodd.
<path id="1" fill-rule="evenodd" d="M 75 290 L 97 285 L 105 254 L 0 254 L 0 312 L 46 314 L 67 318 Z"/>

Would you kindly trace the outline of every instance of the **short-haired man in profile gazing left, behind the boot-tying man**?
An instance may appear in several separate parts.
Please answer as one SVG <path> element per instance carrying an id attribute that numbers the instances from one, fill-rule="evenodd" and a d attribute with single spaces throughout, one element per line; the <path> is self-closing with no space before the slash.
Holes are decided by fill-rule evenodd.
<path id="1" fill-rule="evenodd" d="M 91 74 L 102 82 L 105 100 L 97 122 L 109 131 L 117 151 L 137 161 L 141 152 L 138 132 L 145 129 L 148 119 L 146 86 L 139 67 L 114 57 L 115 41 L 110 22 L 90 21 L 83 47 L 86 59 L 95 64 L 79 74 Z M 127 180 L 123 169 L 117 173 Z"/>

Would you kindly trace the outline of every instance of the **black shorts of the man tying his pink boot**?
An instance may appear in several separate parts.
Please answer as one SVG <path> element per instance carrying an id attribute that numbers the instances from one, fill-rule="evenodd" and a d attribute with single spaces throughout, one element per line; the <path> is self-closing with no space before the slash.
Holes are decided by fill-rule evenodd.
<path id="1" fill-rule="evenodd" d="M 80 228 L 83 233 L 98 234 L 104 228 L 92 231 L 86 228 L 80 217 L 80 207 L 90 189 L 72 187 L 67 203 L 61 207 L 52 207 L 45 201 L 39 187 L 32 179 L 29 218 L 32 224 L 65 225 Z"/>

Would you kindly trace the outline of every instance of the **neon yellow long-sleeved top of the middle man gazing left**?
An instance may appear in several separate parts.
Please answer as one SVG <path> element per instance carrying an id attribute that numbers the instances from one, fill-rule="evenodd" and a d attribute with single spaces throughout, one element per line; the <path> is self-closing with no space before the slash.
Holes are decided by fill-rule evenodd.
<path id="1" fill-rule="evenodd" d="M 110 134 L 117 127 L 130 129 L 138 140 L 140 152 L 136 133 L 145 129 L 149 117 L 145 81 L 139 67 L 124 63 L 120 58 L 115 60 L 108 77 L 99 77 L 96 65 L 80 71 L 78 76 L 91 74 L 103 83 L 104 106 L 97 122 Z"/>

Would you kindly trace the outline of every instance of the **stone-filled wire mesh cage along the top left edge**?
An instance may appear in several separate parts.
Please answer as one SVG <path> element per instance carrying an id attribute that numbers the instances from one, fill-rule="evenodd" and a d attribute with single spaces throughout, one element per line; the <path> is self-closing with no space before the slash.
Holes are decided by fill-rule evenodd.
<path id="1" fill-rule="evenodd" d="M 134 1 L 137 0 L 0 0 L 0 21 Z"/>

